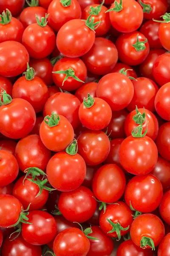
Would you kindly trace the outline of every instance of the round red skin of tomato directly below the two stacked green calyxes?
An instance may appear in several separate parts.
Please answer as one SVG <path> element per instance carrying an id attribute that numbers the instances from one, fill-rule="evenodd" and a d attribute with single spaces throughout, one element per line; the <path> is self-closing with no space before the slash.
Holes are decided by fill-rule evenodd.
<path id="1" fill-rule="evenodd" d="M 158 150 L 154 141 L 147 136 L 143 138 L 129 136 L 120 145 L 119 159 L 127 172 L 144 175 L 155 167 Z"/>

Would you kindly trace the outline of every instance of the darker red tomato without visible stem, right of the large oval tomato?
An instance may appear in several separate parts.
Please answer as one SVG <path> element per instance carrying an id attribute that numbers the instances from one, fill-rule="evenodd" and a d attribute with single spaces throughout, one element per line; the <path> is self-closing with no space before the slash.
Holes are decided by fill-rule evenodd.
<path id="1" fill-rule="evenodd" d="M 88 71 L 97 75 L 111 72 L 118 60 L 116 46 L 106 38 L 96 38 L 91 49 L 82 56 Z"/>

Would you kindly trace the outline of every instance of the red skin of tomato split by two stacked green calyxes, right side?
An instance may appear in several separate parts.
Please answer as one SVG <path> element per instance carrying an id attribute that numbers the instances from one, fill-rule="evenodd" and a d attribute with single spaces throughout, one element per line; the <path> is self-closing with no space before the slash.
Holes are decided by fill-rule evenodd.
<path id="1" fill-rule="evenodd" d="M 139 112 L 143 114 L 145 112 L 145 122 L 142 124 L 143 131 L 144 133 L 147 129 L 147 136 L 150 137 L 152 140 L 155 140 L 157 135 L 158 135 L 158 120 L 156 116 L 149 110 L 144 109 L 144 108 L 138 108 Z M 126 136 L 130 136 L 132 134 L 132 131 L 134 128 L 136 128 L 138 125 L 135 123 L 133 120 L 133 116 L 136 115 L 136 110 L 133 110 L 130 112 L 126 119 L 125 119 L 125 133 Z"/>

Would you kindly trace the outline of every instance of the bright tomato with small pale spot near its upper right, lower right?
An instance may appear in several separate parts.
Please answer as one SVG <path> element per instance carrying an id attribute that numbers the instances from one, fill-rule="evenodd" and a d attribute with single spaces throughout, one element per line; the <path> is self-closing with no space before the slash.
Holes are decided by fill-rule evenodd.
<path id="1" fill-rule="evenodd" d="M 152 174 L 135 176 L 126 186 L 125 201 L 126 204 L 139 212 L 153 212 L 163 196 L 163 188 L 158 178 Z"/>

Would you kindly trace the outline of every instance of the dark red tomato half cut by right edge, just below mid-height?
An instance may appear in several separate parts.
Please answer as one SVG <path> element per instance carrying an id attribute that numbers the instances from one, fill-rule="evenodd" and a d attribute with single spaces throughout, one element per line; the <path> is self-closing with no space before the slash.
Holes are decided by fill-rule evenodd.
<path id="1" fill-rule="evenodd" d="M 161 157 L 170 161 L 170 122 L 161 125 L 155 143 Z"/>

